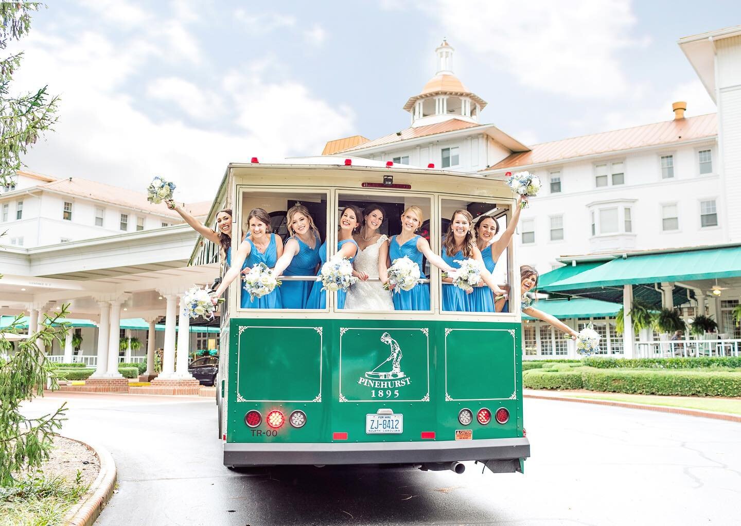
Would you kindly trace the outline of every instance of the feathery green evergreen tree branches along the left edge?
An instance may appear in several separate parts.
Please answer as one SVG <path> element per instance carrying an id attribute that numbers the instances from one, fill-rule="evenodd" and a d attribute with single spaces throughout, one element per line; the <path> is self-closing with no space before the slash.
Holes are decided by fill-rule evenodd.
<path id="1" fill-rule="evenodd" d="M 30 29 L 31 13 L 39 2 L 0 3 L 0 51 L 19 40 Z M 21 168 L 21 156 L 56 122 L 58 99 L 49 97 L 44 86 L 36 93 L 10 96 L 13 72 L 20 66 L 23 53 L 0 60 L 0 185 L 11 184 L 10 177 Z M 1 236 L 1 234 L 0 234 Z M 0 275 L 0 278 L 2 275 Z M 24 400 L 34 393 L 43 395 L 50 382 L 57 385 L 56 375 L 46 359 L 44 349 L 57 339 L 62 342 L 69 327 L 62 323 L 68 306 L 55 316 L 45 316 L 35 333 L 13 344 L 6 334 L 20 332 L 21 316 L 0 332 L 0 486 L 13 484 L 13 477 L 23 470 L 38 468 L 48 458 L 55 430 L 62 427 L 66 407 L 36 419 L 25 418 L 20 411 Z M 38 342 L 41 342 L 39 345 Z M 17 347 L 13 350 L 13 347 Z"/>

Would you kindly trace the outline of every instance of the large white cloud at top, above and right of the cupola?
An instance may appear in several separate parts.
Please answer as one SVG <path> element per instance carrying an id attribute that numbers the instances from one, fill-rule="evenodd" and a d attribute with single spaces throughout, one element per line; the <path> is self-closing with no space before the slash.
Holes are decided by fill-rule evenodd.
<path id="1" fill-rule="evenodd" d="M 611 99 L 628 90 L 618 53 L 645 45 L 631 39 L 636 19 L 628 1 L 455 0 L 418 4 L 436 17 L 453 47 L 514 81 L 559 95 Z M 466 16 L 465 13 L 468 13 Z M 451 16 L 451 13 L 455 13 Z"/>

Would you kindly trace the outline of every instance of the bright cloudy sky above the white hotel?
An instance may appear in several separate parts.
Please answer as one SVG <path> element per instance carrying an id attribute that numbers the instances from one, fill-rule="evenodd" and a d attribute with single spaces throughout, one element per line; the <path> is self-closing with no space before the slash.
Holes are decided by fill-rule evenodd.
<path id="1" fill-rule="evenodd" d="M 443 37 L 482 122 L 526 144 L 715 110 L 677 39 L 741 24 L 737 1 L 48 2 L 15 90 L 62 97 L 30 170 L 210 199 L 228 162 L 319 154 L 409 124 Z"/>

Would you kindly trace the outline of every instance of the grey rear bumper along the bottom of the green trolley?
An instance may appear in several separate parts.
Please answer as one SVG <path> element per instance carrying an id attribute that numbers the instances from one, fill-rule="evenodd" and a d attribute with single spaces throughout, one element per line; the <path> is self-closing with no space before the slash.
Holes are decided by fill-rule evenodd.
<path id="1" fill-rule="evenodd" d="M 224 445 L 225 466 L 422 464 L 462 460 L 511 460 L 530 456 L 530 442 L 482 439 L 434 442 Z"/>

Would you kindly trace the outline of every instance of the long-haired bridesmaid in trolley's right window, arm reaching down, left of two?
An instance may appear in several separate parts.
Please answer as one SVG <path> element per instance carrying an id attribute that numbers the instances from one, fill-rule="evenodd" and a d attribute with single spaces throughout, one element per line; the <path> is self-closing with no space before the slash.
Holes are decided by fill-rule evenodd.
<path id="1" fill-rule="evenodd" d="M 456 210 L 453 212 L 451 223 L 448 225 L 448 232 L 445 234 L 445 241 L 442 242 L 442 259 L 445 263 L 453 268 L 459 268 L 460 265 L 455 262 L 464 259 L 475 259 L 481 267 L 482 281 L 488 285 L 488 288 L 495 294 L 504 294 L 505 291 L 500 289 L 494 283 L 494 278 L 484 266 L 479 248 L 473 237 L 471 226 L 473 216 L 468 210 Z M 443 282 L 452 283 L 453 279 L 443 278 Z M 455 285 L 442 286 L 442 310 L 453 310 L 456 312 L 471 311 L 471 302 L 468 300 L 473 290 L 465 291 Z M 491 293 L 490 293 L 491 295 Z"/>

